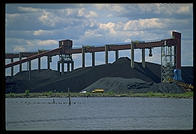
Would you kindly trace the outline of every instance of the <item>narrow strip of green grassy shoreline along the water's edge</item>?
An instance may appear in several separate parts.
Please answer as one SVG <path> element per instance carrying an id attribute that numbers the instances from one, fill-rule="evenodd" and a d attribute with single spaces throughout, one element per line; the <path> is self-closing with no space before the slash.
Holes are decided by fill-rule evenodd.
<path id="1" fill-rule="evenodd" d="M 185 93 L 70 93 L 71 97 L 159 97 L 159 98 L 193 98 L 193 92 Z M 8 93 L 6 98 L 51 98 L 51 97 L 68 97 L 68 93 L 62 92 L 43 92 L 43 93 Z"/>

